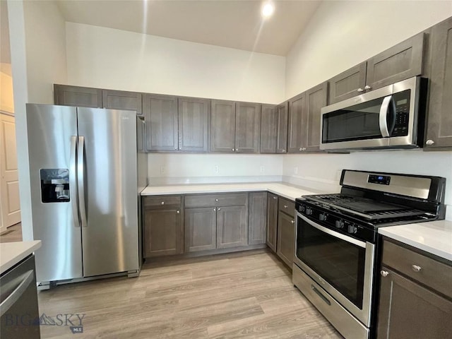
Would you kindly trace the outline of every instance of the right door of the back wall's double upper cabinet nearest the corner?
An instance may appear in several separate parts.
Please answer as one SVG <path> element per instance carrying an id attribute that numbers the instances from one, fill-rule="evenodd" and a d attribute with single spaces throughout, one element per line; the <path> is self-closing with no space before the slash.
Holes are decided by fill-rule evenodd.
<path id="1" fill-rule="evenodd" d="M 235 151 L 259 153 L 261 104 L 237 102 L 235 111 Z"/>

